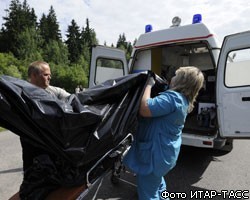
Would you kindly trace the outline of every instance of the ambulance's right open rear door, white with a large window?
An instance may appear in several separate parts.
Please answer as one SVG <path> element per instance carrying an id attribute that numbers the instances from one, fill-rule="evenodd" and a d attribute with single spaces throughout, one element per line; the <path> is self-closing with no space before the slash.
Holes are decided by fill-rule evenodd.
<path id="1" fill-rule="evenodd" d="M 250 138 L 250 31 L 224 38 L 216 84 L 220 135 Z"/>

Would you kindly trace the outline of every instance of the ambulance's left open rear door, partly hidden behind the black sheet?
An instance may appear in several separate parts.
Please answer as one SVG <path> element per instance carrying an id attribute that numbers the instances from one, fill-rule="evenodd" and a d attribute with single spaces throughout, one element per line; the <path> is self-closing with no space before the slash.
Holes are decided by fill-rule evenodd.
<path id="1" fill-rule="evenodd" d="M 89 87 L 128 74 L 125 52 L 111 47 L 92 48 Z"/>

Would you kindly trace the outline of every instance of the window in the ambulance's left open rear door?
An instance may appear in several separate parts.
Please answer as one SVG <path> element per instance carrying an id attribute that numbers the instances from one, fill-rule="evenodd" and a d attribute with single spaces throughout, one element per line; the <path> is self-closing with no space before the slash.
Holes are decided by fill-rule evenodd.
<path id="1" fill-rule="evenodd" d="M 96 62 L 95 84 L 124 75 L 124 66 L 120 60 L 98 58 Z"/>

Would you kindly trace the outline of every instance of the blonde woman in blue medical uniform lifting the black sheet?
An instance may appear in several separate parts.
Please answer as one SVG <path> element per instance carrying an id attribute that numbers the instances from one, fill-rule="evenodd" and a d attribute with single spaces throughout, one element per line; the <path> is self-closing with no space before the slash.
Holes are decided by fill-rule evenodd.
<path id="1" fill-rule="evenodd" d="M 136 173 L 139 200 L 159 200 L 166 190 L 164 176 L 175 166 L 186 116 L 203 86 L 202 72 L 180 67 L 169 90 L 151 98 L 150 78 L 140 103 L 135 140 L 123 162 Z"/>

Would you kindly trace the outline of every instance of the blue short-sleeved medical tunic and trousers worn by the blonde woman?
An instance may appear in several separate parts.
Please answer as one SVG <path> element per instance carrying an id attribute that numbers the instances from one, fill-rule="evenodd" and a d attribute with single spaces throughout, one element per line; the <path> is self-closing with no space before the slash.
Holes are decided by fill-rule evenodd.
<path id="1" fill-rule="evenodd" d="M 147 100 L 152 117 L 140 118 L 135 140 L 123 162 L 137 176 L 140 200 L 160 199 L 164 175 L 176 164 L 188 101 L 167 90 Z"/>

